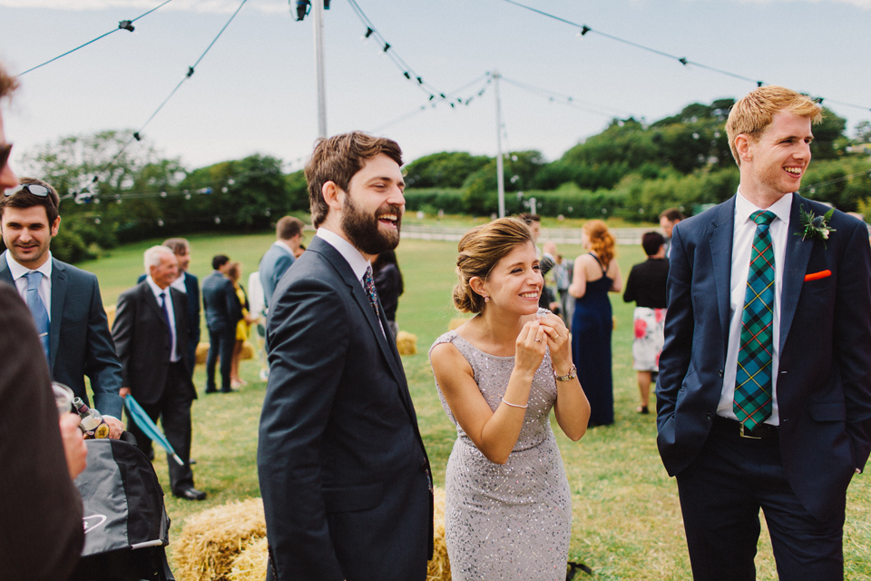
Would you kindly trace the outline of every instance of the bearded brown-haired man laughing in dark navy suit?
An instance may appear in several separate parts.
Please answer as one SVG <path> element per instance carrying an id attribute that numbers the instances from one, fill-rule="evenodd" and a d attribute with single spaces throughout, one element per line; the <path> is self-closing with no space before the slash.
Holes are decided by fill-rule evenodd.
<path id="1" fill-rule="evenodd" d="M 370 266 L 399 242 L 401 165 L 395 142 L 358 132 L 321 139 L 306 164 L 318 232 L 267 322 L 267 579 L 426 578 L 432 476 Z"/>

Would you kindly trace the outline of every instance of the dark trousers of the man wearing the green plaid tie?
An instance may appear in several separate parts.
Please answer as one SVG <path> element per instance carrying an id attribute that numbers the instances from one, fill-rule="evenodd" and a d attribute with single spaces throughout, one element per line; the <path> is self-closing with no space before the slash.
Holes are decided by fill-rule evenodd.
<path id="1" fill-rule="evenodd" d="M 756 579 L 760 508 L 781 581 L 844 578 L 847 491 L 832 517 L 813 517 L 789 486 L 778 438 L 741 438 L 737 422 L 718 418 L 677 479 L 696 581 Z"/>

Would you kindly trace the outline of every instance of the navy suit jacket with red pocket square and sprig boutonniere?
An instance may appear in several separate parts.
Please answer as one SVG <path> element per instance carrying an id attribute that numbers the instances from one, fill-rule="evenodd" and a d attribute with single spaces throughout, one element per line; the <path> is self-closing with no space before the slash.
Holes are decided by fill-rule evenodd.
<path id="1" fill-rule="evenodd" d="M 837 211 L 826 243 L 802 240 L 801 207 L 817 215 L 828 210 L 793 194 L 775 389 L 789 484 L 824 519 L 871 451 L 871 247 L 866 225 Z M 680 222 L 671 240 L 657 444 L 672 476 L 699 454 L 719 405 L 734 213 L 733 197 Z M 805 280 L 817 273 L 822 278 Z"/>

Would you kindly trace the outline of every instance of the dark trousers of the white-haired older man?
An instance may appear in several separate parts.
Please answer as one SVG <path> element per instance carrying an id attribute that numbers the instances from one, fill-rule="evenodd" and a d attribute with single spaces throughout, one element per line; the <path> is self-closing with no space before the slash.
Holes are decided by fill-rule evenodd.
<path id="1" fill-rule="evenodd" d="M 170 465 L 170 487 L 173 493 L 181 492 L 193 487 L 193 471 L 191 470 L 191 404 L 193 394 L 188 387 L 190 379 L 187 378 L 188 368 L 183 362 L 170 363 L 170 370 L 166 377 L 166 386 L 160 401 L 153 404 L 140 402 L 142 409 L 148 414 L 154 423 L 158 418 L 161 420 L 161 428 L 166 439 L 170 441 L 175 453 L 184 462 L 184 466 L 166 455 L 166 463 Z M 136 445 L 151 456 L 152 440 L 146 436 L 142 429 L 132 419 L 127 420 L 127 431 L 136 437 Z"/>

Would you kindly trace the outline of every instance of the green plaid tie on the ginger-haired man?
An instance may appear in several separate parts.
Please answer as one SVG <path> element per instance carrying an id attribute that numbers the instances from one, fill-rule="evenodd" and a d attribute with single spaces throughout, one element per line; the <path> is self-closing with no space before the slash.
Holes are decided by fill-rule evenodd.
<path id="1" fill-rule="evenodd" d="M 771 352 L 774 320 L 774 249 L 768 226 L 773 212 L 754 212 L 756 235 L 750 251 L 750 271 L 744 312 L 741 315 L 741 346 L 735 376 L 732 409 L 745 428 L 753 429 L 771 415 Z"/>

